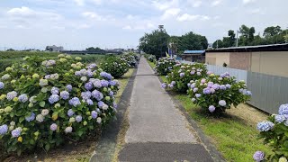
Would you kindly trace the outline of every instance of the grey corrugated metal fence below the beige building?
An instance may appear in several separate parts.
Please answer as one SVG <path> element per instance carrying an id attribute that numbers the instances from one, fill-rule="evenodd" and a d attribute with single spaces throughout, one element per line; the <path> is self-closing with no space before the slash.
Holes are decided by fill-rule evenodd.
<path id="1" fill-rule="evenodd" d="M 189 61 L 181 62 L 192 64 Z M 277 113 L 281 104 L 288 103 L 288 77 L 212 65 L 207 65 L 207 68 L 214 74 L 220 75 L 229 72 L 230 76 L 236 76 L 238 80 L 245 80 L 247 89 L 252 92 L 251 101 L 247 103 L 264 112 Z"/>

